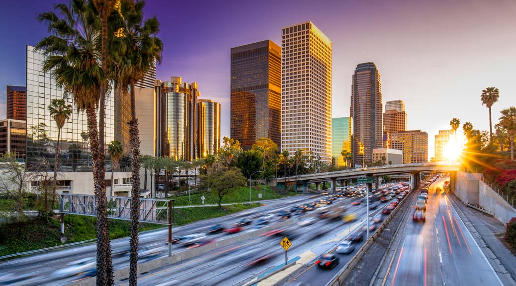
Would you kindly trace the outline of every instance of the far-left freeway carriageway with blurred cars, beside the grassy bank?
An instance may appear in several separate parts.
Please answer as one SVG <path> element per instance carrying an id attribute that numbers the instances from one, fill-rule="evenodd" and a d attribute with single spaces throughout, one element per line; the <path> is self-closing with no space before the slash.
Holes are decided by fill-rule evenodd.
<path id="1" fill-rule="evenodd" d="M 181 227 L 173 228 L 174 237 L 183 235 L 205 232 L 209 227 L 215 224 L 233 224 L 243 217 L 259 216 L 263 213 L 277 212 L 281 209 L 288 209 L 293 205 L 300 205 L 307 201 L 315 200 L 309 195 L 291 197 L 281 200 L 264 201 L 266 206 L 261 206 L 251 210 L 241 211 L 231 215 L 212 218 Z M 221 234 L 219 234 L 220 236 Z M 159 229 L 140 234 L 140 261 L 165 257 L 167 255 L 167 230 Z M 115 269 L 128 266 L 128 238 L 116 239 L 111 241 L 111 249 L 114 258 Z M 77 267 L 78 261 L 91 262 L 95 258 L 95 244 L 78 246 L 65 250 L 53 251 L 51 253 L 33 255 L 29 257 L 12 259 L 0 263 L 0 284 L 9 279 L 17 279 L 20 285 L 29 284 L 29 281 L 35 281 L 35 284 L 63 284 L 77 279 L 75 274 L 84 271 Z M 174 246 L 173 252 L 184 251 L 184 248 Z M 73 268 L 76 267 L 77 271 Z M 55 271 L 66 268 L 70 270 L 66 277 L 54 275 Z M 30 279 L 30 280 L 29 280 Z M 6 282 L 7 283 L 7 282 Z M 11 284 L 11 283 L 9 283 Z"/>

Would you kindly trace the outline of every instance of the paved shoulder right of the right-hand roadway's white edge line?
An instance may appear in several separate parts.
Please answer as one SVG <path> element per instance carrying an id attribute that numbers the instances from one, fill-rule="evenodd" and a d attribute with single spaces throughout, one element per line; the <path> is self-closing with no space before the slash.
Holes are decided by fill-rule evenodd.
<path id="1" fill-rule="evenodd" d="M 505 225 L 486 213 L 465 206 L 455 194 L 446 193 L 504 285 L 516 285 L 516 256 L 495 236 L 505 231 Z"/>

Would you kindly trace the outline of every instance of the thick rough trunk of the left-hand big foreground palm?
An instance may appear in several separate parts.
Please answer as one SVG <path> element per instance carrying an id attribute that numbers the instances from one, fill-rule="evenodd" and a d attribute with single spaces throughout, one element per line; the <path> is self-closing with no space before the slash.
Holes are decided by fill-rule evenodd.
<path id="1" fill-rule="evenodd" d="M 95 185 L 95 203 L 97 209 L 97 243 L 96 243 L 96 284 L 98 286 L 114 284 L 113 266 L 111 261 L 111 244 L 108 232 L 107 198 L 105 175 L 105 156 L 100 152 L 99 131 L 97 129 L 94 108 L 86 110 L 88 131 L 93 162 L 93 181 Z"/>

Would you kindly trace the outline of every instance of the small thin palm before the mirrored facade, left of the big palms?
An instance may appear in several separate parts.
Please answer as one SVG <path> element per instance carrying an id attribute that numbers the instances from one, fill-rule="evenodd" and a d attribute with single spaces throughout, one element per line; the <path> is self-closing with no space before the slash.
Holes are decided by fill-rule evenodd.
<path id="1" fill-rule="evenodd" d="M 65 99 L 52 99 L 48 107 L 50 116 L 56 122 L 57 126 L 57 141 L 56 141 L 56 156 L 54 158 L 54 190 L 52 193 L 52 209 L 54 209 L 55 196 L 57 190 L 57 167 L 59 159 L 59 140 L 61 138 L 61 129 L 72 115 L 72 105 L 66 104 Z"/>

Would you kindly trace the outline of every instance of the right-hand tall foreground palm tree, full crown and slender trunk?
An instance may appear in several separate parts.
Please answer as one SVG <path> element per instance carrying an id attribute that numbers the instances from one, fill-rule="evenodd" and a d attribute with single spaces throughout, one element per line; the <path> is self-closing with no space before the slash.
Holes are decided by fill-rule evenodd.
<path id="1" fill-rule="evenodd" d="M 155 61 L 162 59 L 163 43 L 155 37 L 159 31 L 159 23 L 156 17 L 143 21 L 144 1 L 125 0 L 120 2 L 118 10 L 123 19 L 121 41 L 117 48 L 120 57 L 116 59 L 121 67 L 119 83 L 126 93 L 129 86 L 131 94 L 131 120 L 129 121 L 129 134 L 131 146 L 132 167 L 132 192 L 131 192 L 131 254 L 129 284 L 137 284 L 138 264 L 138 219 L 140 201 L 140 140 L 138 119 L 136 118 L 135 83 L 143 80 L 144 75 L 154 66 Z"/>

